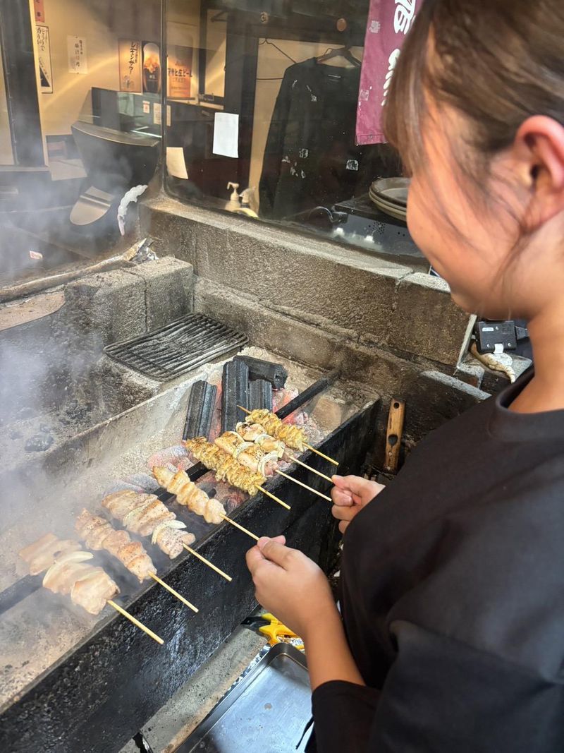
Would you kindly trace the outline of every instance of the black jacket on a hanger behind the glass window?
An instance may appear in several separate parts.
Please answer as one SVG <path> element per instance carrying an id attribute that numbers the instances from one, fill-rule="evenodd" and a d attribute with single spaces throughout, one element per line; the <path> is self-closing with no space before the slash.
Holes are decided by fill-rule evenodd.
<path id="1" fill-rule="evenodd" d="M 284 218 L 368 191 L 355 145 L 360 71 L 316 58 L 290 66 L 280 85 L 259 184 L 260 215 Z M 371 171 L 362 171 L 374 179 Z"/>

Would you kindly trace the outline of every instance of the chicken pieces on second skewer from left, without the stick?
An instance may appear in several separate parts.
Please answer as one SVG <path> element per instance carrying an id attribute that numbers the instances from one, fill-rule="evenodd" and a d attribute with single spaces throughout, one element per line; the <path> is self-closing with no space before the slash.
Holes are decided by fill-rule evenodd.
<path id="1" fill-rule="evenodd" d="M 105 549 L 136 575 L 140 582 L 149 578 L 156 567 L 140 541 L 132 541 L 127 531 L 116 531 L 108 520 L 83 510 L 75 527 L 89 549 Z"/>

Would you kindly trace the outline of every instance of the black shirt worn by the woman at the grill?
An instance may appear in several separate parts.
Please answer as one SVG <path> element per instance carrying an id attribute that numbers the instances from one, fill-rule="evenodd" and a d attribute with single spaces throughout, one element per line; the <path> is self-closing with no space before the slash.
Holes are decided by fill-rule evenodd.
<path id="1" fill-rule="evenodd" d="M 344 537 L 366 687 L 321 685 L 318 753 L 564 751 L 564 410 L 530 377 L 432 432 Z"/>

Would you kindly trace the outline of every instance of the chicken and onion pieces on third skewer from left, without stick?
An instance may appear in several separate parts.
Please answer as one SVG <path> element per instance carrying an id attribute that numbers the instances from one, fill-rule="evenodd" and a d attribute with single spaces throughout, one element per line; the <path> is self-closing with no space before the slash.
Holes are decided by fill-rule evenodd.
<path id="1" fill-rule="evenodd" d="M 184 544 L 196 541 L 193 533 L 182 530 L 186 528 L 186 523 L 176 520 L 176 515 L 154 494 L 123 489 L 105 497 L 102 507 L 132 533 L 151 536 L 151 542 L 171 559 L 182 552 Z"/>

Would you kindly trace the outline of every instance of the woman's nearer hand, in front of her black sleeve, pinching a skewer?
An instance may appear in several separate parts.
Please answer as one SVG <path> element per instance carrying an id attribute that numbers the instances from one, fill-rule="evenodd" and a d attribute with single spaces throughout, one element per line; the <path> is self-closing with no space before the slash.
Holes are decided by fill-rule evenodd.
<path id="1" fill-rule="evenodd" d="M 284 541 L 282 536 L 261 538 L 247 552 L 247 567 L 259 604 L 306 640 L 312 626 L 337 608 L 323 571 Z"/>

